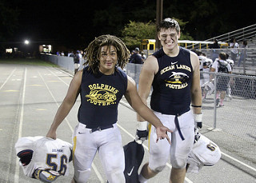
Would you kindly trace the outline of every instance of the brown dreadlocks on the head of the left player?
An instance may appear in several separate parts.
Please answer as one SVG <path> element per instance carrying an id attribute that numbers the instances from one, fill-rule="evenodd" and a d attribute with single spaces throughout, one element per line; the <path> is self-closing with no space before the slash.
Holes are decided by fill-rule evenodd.
<path id="1" fill-rule="evenodd" d="M 93 70 L 94 74 L 98 73 L 98 65 L 100 62 L 99 58 L 102 46 L 114 46 L 118 54 L 118 66 L 120 66 L 122 69 L 126 66 L 130 51 L 126 48 L 125 43 L 122 42 L 120 38 L 113 35 L 101 35 L 98 38 L 95 38 L 94 41 L 90 42 L 89 46 L 85 50 L 85 57 L 87 58 L 85 64 L 88 65 L 91 70 Z"/>

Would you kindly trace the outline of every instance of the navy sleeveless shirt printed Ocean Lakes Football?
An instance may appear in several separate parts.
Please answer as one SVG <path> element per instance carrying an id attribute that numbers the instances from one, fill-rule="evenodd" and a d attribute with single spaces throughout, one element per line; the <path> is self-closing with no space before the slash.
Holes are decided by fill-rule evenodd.
<path id="1" fill-rule="evenodd" d="M 190 87 L 193 69 L 190 51 L 179 47 L 176 57 L 169 57 L 162 49 L 155 52 L 159 70 L 152 83 L 150 107 L 164 114 L 182 114 L 190 110 Z"/>

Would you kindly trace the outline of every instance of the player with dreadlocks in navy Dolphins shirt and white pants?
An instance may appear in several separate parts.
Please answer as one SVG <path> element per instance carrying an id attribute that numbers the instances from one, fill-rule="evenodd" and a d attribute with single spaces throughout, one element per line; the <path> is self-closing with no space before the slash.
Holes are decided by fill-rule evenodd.
<path id="1" fill-rule="evenodd" d="M 122 96 L 129 104 L 156 128 L 157 141 L 171 132 L 144 105 L 138 96 L 135 82 L 123 68 L 129 58 L 129 50 L 121 39 L 112 35 L 95 38 L 86 49 L 86 67 L 74 75 L 62 105 L 54 117 L 46 137 L 56 138 L 58 125 L 73 107 L 80 93 L 78 125 L 73 133 L 74 182 L 86 182 L 90 167 L 98 152 L 110 183 L 124 183 L 125 158 L 118 121 L 118 103 Z M 121 67 L 121 69 L 119 67 Z"/>

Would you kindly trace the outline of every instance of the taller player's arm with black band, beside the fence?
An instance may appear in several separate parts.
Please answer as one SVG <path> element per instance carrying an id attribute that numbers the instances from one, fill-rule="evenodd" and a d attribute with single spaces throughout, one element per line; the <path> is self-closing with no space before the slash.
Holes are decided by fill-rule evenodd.
<path id="1" fill-rule="evenodd" d="M 193 80 L 191 86 L 191 104 L 194 112 L 194 121 L 202 128 L 202 90 L 200 86 L 199 59 L 196 54 L 190 52 L 190 60 L 193 67 Z"/>

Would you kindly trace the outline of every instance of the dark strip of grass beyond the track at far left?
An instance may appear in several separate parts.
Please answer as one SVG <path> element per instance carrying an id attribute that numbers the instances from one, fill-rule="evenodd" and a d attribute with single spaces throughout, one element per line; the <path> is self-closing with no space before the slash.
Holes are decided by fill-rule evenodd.
<path id="1" fill-rule="evenodd" d="M 0 58 L 0 64 L 22 64 L 33 66 L 52 66 L 58 67 L 52 62 L 43 61 L 39 58 Z"/>

